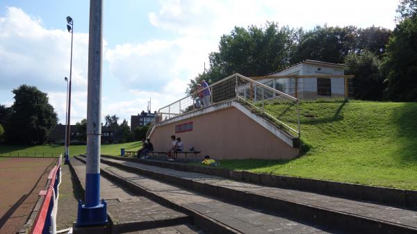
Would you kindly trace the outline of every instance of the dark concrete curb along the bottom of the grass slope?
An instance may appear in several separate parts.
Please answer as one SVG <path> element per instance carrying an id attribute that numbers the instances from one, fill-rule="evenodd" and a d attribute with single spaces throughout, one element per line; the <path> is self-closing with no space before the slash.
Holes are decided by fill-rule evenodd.
<path id="1" fill-rule="evenodd" d="M 128 162 L 138 162 L 155 167 L 175 169 L 182 172 L 194 172 L 230 178 L 235 181 L 244 181 L 268 187 L 281 187 L 290 190 L 314 192 L 331 197 L 341 197 L 355 201 L 379 203 L 385 206 L 395 206 L 417 210 L 417 191 L 402 190 L 391 187 L 377 187 L 337 181 L 325 181 L 315 178 L 302 178 L 294 176 L 280 176 L 273 174 L 257 174 L 247 171 L 234 171 L 217 167 L 204 167 L 199 165 L 187 165 L 181 162 L 167 162 L 162 160 L 141 160 L 139 158 L 126 158 L 120 156 L 106 156 Z"/>

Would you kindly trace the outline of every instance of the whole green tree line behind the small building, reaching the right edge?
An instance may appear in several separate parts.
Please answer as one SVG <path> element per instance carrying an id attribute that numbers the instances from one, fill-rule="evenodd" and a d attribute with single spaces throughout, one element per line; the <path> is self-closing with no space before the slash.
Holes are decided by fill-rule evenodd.
<path id="1" fill-rule="evenodd" d="M 311 30 L 279 26 L 235 27 L 222 35 L 210 68 L 188 83 L 220 81 L 235 72 L 263 76 L 302 60 L 345 63 L 353 74 L 354 96 L 364 100 L 417 101 L 417 0 L 402 0 L 396 26 L 316 26 Z"/>

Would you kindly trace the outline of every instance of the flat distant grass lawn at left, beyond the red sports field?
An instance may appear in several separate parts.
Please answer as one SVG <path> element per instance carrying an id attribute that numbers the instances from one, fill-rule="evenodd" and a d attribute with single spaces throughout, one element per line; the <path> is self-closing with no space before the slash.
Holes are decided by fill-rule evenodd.
<path id="1" fill-rule="evenodd" d="M 112 155 L 112 156 L 120 156 L 120 149 L 124 148 L 129 151 L 136 151 L 142 145 L 142 142 L 128 142 L 122 144 L 102 144 L 101 145 L 101 154 Z M 85 153 L 86 146 L 85 145 L 73 145 L 70 146 L 70 156 L 76 156 L 81 153 Z M 37 145 L 37 146 L 15 146 L 15 145 L 0 145 L 0 156 L 3 153 L 4 156 L 8 156 L 10 153 L 12 156 L 33 156 L 36 153 L 36 156 L 42 156 L 42 153 L 45 153 L 45 156 L 51 156 L 51 153 L 63 153 L 64 146 L 63 145 Z"/>

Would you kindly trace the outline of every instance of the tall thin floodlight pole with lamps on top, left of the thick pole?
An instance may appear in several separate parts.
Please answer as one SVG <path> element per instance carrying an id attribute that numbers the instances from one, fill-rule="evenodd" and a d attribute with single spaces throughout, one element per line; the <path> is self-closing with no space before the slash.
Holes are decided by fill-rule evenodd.
<path id="1" fill-rule="evenodd" d="M 71 33 L 71 59 L 70 59 L 70 83 L 68 87 L 68 107 L 67 107 L 67 128 L 65 130 L 65 163 L 70 162 L 70 119 L 71 119 L 71 81 L 72 81 L 72 41 L 74 39 L 74 20 L 67 16 L 67 29 Z"/>

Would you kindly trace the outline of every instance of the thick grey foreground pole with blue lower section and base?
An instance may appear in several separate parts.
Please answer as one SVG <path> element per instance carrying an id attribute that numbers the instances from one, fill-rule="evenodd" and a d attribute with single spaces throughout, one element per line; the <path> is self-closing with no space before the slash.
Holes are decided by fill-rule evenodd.
<path id="1" fill-rule="evenodd" d="M 77 226 L 107 223 L 106 201 L 100 201 L 102 12 L 102 0 L 90 0 L 85 204 L 79 201 Z"/>

